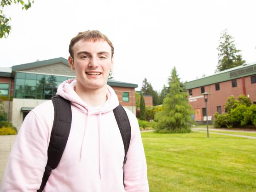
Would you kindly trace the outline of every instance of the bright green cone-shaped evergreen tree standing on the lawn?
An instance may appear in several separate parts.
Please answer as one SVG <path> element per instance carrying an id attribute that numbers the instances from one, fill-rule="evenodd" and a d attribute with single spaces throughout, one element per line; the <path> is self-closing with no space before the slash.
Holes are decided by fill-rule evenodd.
<path id="1" fill-rule="evenodd" d="M 156 132 L 187 133 L 191 131 L 194 111 L 188 104 L 187 93 L 180 88 L 176 68 L 172 69 L 170 90 L 163 100 L 163 109 L 155 115 Z"/>

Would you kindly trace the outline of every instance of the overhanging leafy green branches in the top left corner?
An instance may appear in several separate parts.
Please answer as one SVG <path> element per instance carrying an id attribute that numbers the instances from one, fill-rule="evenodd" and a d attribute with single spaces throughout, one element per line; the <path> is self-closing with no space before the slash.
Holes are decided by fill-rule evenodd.
<path id="1" fill-rule="evenodd" d="M 12 3 L 15 4 L 21 4 L 22 9 L 29 9 L 31 7 L 31 3 L 34 3 L 34 0 L 28 0 L 27 3 L 24 3 L 23 0 L 1 0 L 0 3 L 0 39 L 3 37 L 7 37 L 11 32 L 11 25 L 9 24 L 9 21 L 11 20 L 11 17 L 6 17 L 6 15 L 3 12 L 3 8 L 5 6 L 10 6 Z"/>

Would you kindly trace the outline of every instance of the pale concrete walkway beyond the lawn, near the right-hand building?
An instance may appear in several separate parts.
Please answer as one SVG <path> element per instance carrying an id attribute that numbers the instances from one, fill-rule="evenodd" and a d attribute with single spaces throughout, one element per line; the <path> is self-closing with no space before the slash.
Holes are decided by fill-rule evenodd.
<path id="1" fill-rule="evenodd" d="M 248 139 L 256 139 L 256 137 L 254 136 L 243 136 L 243 135 L 235 135 L 235 134 L 232 134 L 232 132 L 241 132 L 241 133 L 256 133 L 256 131 L 243 131 L 243 130 L 239 130 L 239 131 L 236 131 L 236 130 L 221 130 L 221 129 L 208 129 L 209 130 L 209 133 L 211 134 L 217 134 L 217 135 L 225 135 L 225 136 L 235 136 L 235 137 L 244 137 L 244 138 L 248 138 Z M 227 131 L 227 132 L 230 132 L 230 133 L 217 133 L 217 132 L 211 132 L 212 131 Z M 205 128 L 192 128 L 192 131 L 197 131 L 197 132 L 204 132 L 206 133 L 207 130 Z"/>

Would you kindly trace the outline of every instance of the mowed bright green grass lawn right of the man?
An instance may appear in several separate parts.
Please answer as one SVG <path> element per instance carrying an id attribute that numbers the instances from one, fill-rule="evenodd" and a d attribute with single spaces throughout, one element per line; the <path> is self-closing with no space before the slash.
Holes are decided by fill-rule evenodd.
<path id="1" fill-rule="evenodd" d="M 256 140 L 141 133 L 150 192 L 256 192 Z"/>

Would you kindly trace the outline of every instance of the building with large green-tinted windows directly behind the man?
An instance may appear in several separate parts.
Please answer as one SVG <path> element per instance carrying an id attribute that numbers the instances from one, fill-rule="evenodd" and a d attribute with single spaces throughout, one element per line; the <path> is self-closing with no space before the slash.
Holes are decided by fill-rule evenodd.
<path id="1" fill-rule="evenodd" d="M 63 57 L 0 68 L 0 98 L 5 101 L 8 119 L 19 129 L 30 110 L 55 96 L 64 80 L 75 77 Z M 111 79 L 107 84 L 116 91 L 120 104 L 136 114 L 138 85 Z"/>

